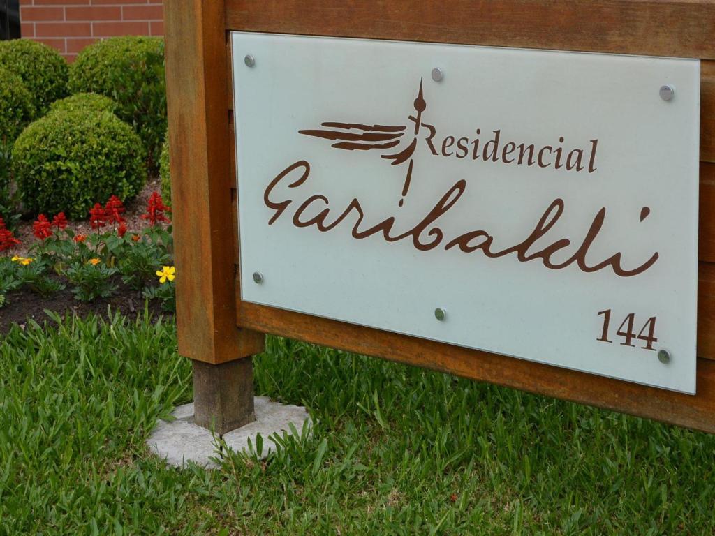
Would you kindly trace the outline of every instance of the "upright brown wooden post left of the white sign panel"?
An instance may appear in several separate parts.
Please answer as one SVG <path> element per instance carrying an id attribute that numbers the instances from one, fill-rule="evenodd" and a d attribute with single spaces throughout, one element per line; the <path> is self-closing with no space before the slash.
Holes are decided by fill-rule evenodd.
<path id="1" fill-rule="evenodd" d="M 194 360 L 197 424 L 225 433 L 254 418 L 264 337 L 236 322 L 225 5 L 164 5 L 179 353 Z"/>

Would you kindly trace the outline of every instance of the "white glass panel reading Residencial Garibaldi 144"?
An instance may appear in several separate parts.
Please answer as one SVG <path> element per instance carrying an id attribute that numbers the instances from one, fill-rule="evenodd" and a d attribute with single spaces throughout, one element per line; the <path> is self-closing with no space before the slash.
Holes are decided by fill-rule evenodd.
<path id="1" fill-rule="evenodd" d="M 243 300 L 695 392 L 699 61 L 232 55 Z"/>

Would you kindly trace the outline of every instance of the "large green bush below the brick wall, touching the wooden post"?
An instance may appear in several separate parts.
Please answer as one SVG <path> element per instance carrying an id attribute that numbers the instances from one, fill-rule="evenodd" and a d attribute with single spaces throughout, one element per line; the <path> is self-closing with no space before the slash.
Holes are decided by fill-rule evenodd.
<path id="1" fill-rule="evenodd" d="M 113 37 L 87 46 L 70 67 L 73 93 L 92 91 L 117 101 L 119 119 L 134 126 L 157 171 L 167 129 L 164 41 L 157 37 Z"/>

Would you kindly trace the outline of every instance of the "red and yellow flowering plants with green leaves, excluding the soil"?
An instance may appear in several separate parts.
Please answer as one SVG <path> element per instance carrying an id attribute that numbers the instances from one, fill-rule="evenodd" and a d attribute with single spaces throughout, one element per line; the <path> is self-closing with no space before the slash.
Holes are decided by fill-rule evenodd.
<path id="1" fill-rule="evenodd" d="M 32 224 L 36 241 L 29 248 L 31 257 L 0 257 L 1 302 L 6 303 L 10 289 L 22 285 L 49 297 L 66 287 L 64 279 L 73 285 L 76 299 L 92 302 L 112 296 L 117 275 L 122 274 L 129 287 L 143 290 L 144 297 L 159 300 L 165 311 L 173 312 L 172 228 L 164 227 L 169 222 L 164 215 L 168 210 L 154 192 L 143 216 L 149 226 L 142 234 L 127 233 L 124 204 L 115 196 L 104 206 L 94 204 L 89 217 L 94 232 L 88 235 L 74 234 L 64 213 L 51 219 L 40 214 Z M 13 245 L 11 233 L 0 234 L 0 245 L 3 239 L 9 247 Z M 157 276 L 159 287 L 151 284 Z"/>

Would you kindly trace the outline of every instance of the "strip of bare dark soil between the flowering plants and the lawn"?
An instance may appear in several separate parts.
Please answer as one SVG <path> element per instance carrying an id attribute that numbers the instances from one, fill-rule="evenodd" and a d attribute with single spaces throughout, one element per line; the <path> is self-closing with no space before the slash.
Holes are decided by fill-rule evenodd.
<path id="1" fill-rule="evenodd" d="M 74 313 L 78 317 L 85 317 L 92 313 L 107 317 L 108 312 L 111 314 L 119 312 L 128 318 L 136 318 L 137 314 L 144 314 L 145 299 L 142 292 L 130 289 L 119 277 L 114 280 L 114 283 L 117 284 L 117 292 L 114 296 L 91 303 L 74 299 L 74 294 L 69 288 L 56 292 L 49 298 L 43 298 L 26 287 L 9 292 L 7 294 L 9 304 L 0 308 L 0 334 L 9 332 L 12 324 L 19 324 L 19 327 L 24 329 L 30 319 L 42 324 L 45 320 L 49 320 L 46 310 L 63 315 Z M 154 318 L 174 316 L 164 312 L 157 300 L 149 302 L 149 314 Z"/>

